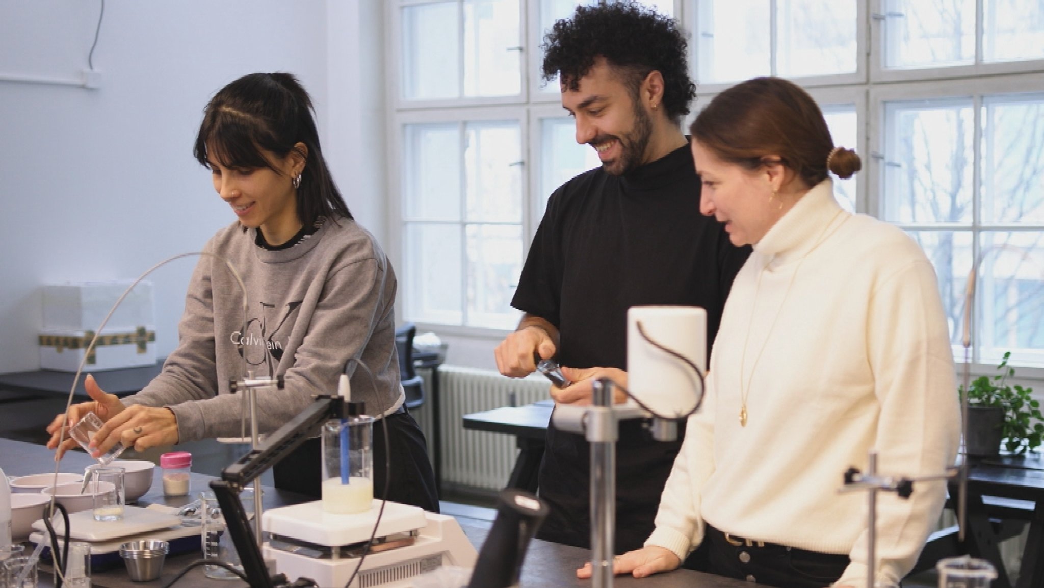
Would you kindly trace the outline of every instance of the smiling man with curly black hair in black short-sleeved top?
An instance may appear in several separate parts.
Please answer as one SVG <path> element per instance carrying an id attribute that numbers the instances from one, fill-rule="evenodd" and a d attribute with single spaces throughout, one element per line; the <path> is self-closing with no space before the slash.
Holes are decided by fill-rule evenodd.
<path id="1" fill-rule="evenodd" d="M 552 386 L 555 402 L 590 403 L 601 377 L 626 385 L 631 306 L 706 308 L 709 353 L 750 255 L 699 214 L 699 180 L 679 128 L 695 95 L 686 47 L 672 19 L 633 2 L 578 6 L 545 38 L 544 78 L 560 76 L 576 142 L 602 165 L 551 194 L 512 301 L 525 314 L 496 358 L 502 374 L 523 377 L 535 358 L 556 357 L 573 383 Z M 638 421 L 620 423 L 615 552 L 652 532 L 682 437 L 661 443 Z M 540 495 L 551 513 L 541 539 L 590 546 L 589 472 L 587 441 L 550 425 Z"/>

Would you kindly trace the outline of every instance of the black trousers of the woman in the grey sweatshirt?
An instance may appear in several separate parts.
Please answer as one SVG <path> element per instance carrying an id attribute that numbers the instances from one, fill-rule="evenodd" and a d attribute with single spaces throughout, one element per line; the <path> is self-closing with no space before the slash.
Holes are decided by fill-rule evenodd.
<path id="1" fill-rule="evenodd" d="M 430 513 L 438 512 L 438 491 L 435 473 L 428 460 L 427 442 L 417 421 L 403 410 L 384 419 L 388 426 L 388 442 L 384 443 L 381 420 L 374 422 L 374 497 L 384 496 L 385 455 L 392 457 L 392 479 L 387 499 L 412 504 Z M 390 450 L 389 450 L 390 449 Z M 276 488 L 311 496 L 323 495 L 323 454 L 318 438 L 309 439 L 285 460 L 272 467 Z"/>

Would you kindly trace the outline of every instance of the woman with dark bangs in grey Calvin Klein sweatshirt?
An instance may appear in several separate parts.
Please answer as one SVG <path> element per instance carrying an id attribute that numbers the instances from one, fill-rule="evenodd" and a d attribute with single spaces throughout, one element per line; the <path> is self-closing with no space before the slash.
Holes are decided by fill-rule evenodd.
<path id="1" fill-rule="evenodd" d="M 186 297 L 177 349 L 144 390 L 122 400 L 91 376 L 93 401 L 77 404 L 48 426 L 56 447 L 62 420 L 95 411 L 106 423 L 95 454 L 117 442 L 143 450 L 241 433 L 241 398 L 229 382 L 283 376 L 283 390 L 258 395 L 261 432 L 271 432 L 351 377 L 352 398 L 384 418 L 390 447 L 374 436 L 374 492 L 438 511 L 424 434 L 406 410 L 395 346 L 396 277 L 376 239 L 352 217 L 319 148 L 311 98 L 288 73 L 254 73 L 219 91 L 207 104 L 195 141 L 196 160 L 236 222 L 219 231 L 200 258 Z M 361 366 L 360 366 L 361 364 Z M 380 426 L 380 425 L 378 425 Z M 67 440 L 58 454 L 73 446 Z M 318 498 L 318 439 L 308 440 L 274 468 L 276 487 Z"/>

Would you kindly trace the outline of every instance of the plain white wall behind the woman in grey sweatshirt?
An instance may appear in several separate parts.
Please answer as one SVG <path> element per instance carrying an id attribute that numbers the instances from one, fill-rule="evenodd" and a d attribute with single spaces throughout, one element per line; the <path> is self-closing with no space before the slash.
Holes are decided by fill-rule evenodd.
<path id="1" fill-rule="evenodd" d="M 100 89 L 0 81 L 0 373 L 39 367 L 41 284 L 134 278 L 235 219 L 191 151 L 204 105 L 240 75 L 301 78 L 334 178 L 380 238 L 374 177 L 383 171 L 373 168 L 383 162 L 360 154 L 381 96 L 352 94 L 373 70 L 361 48 L 379 42 L 333 32 L 379 39 L 379 24 L 359 21 L 374 11 L 379 21 L 379 2 L 108 0 L 94 52 Z M 98 9 L 95 0 L 0 0 L 0 78 L 78 77 Z M 160 355 L 176 345 L 193 265 L 150 278 Z"/>

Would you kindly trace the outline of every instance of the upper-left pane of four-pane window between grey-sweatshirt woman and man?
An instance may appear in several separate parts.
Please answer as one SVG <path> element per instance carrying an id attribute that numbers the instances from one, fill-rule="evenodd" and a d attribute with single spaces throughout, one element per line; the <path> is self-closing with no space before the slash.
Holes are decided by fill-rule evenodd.
<path id="1" fill-rule="evenodd" d="M 406 126 L 404 209 L 408 219 L 460 218 L 460 125 Z"/>

